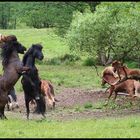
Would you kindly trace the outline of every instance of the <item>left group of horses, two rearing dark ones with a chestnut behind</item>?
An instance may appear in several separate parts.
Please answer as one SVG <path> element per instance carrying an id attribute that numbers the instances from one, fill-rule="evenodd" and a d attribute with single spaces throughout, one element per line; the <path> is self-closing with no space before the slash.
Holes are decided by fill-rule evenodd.
<path id="1" fill-rule="evenodd" d="M 36 103 L 36 113 L 41 113 L 45 117 L 46 100 L 49 100 L 55 107 L 54 89 L 49 81 L 41 80 L 38 69 L 35 66 L 35 59 L 42 60 L 43 53 L 41 44 L 33 44 L 27 51 L 17 40 L 15 35 L 1 38 L 1 58 L 3 74 L 0 77 L 0 118 L 7 119 L 4 114 L 5 106 L 8 103 L 8 93 L 22 76 L 21 84 L 24 90 L 27 119 L 29 119 L 29 102 Z M 24 52 L 26 53 L 24 54 Z M 23 60 L 19 54 L 24 54 Z"/>

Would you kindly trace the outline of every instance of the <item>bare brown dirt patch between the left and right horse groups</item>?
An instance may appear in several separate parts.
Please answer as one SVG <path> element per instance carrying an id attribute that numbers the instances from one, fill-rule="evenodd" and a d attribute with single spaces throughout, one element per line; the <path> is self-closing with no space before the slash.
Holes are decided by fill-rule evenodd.
<path id="1" fill-rule="evenodd" d="M 75 105 L 84 105 L 88 102 L 96 103 L 101 100 L 107 99 L 104 90 L 91 90 L 80 88 L 63 88 L 61 93 L 56 95 L 60 100 L 57 104 L 58 107 L 70 108 Z"/>

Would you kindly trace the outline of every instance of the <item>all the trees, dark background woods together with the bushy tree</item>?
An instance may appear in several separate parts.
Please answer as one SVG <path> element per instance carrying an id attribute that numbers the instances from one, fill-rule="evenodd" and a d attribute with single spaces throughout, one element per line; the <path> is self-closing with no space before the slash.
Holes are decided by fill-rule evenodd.
<path id="1" fill-rule="evenodd" d="M 71 50 L 140 65 L 139 2 L 0 2 L 0 28 L 55 28 Z"/>

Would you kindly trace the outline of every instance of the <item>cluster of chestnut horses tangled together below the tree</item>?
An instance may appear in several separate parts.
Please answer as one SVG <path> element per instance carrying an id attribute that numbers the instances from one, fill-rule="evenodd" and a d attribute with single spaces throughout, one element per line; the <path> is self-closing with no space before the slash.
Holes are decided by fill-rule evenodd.
<path id="1" fill-rule="evenodd" d="M 108 66 L 102 73 L 102 86 L 106 83 L 110 85 L 108 99 L 115 93 L 114 100 L 118 92 L 127 93 L 132 101 L 135 97 L 140 97 L 140 71 L 137 69 L 130 69 L 120 61 L 113 61 L 112 66 Z M 107 91 L 106 90 L 106 91 Z M 132 102 L 131 102 L 132 103 Z"/>

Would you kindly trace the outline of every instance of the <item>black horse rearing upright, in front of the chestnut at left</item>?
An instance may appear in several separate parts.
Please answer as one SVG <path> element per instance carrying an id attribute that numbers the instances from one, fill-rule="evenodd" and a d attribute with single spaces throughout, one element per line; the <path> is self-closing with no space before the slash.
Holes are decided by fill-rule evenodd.
<path id="1" fill-rule="evenodd" d="M 35 100 L 37 104 L 36 112 L 41 113 L 45 117 L 46 103 L 45 98 L 41 94 L 41 81 L 38 70 L 35 66 L 35 59 L 42 60 L 42 46 L 40 44 L 32 45 L 23 57 L 23 65 L 30 68 L 30 71 L 23 74 L 21 79 L 22 87 L 25 95 L 25 105 L 27 111 L 27 119 L 29 119 L 29 102 Z"/>

